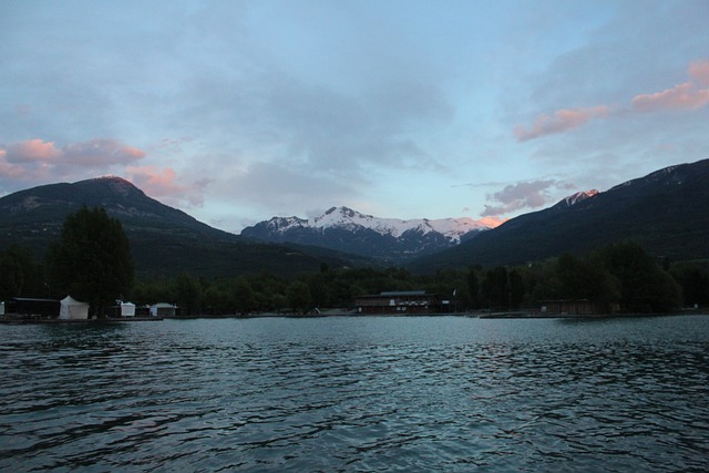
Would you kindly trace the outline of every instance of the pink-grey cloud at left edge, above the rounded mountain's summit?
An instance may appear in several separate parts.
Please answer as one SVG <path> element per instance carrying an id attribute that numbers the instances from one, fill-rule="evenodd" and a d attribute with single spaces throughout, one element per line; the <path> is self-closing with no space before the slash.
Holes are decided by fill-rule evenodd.
<path id="1" fill-rule="evenodd" d="M 0 182 L 39 184 L 58 182 L 85 174 L 94 177 L 115 166 L 127 165 L 145 157 L 136 147 L 115 140 L 91 140 L 58 146 L 40 138 L 0 145 Z M 4 184 L 4 183 L 3 183 Z"/>

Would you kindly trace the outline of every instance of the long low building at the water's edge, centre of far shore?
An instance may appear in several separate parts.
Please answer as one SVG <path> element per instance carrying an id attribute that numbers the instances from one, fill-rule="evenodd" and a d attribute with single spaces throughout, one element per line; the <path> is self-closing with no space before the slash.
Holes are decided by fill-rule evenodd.
<path id="1" fill-rule="evenodd" d="M 358 313 L 399 316 L 453 311 L 450 300 L 438 294 L 427 294 L 424 290 L 383 291 L 378 295 L 359 296 L 354 298 L 354 307 Z"/>

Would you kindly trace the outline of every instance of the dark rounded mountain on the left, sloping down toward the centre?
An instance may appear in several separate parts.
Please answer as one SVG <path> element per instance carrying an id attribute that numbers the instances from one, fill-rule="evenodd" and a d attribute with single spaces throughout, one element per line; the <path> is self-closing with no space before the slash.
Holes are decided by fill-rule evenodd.
<path id="1" fill-rule="evenodd" d="M 60 235 L 68 214 L 101 206 L 121 220 L 131 241 L 136 273 L 174 276 L 235 276 L 301 271 L 356 265 L 357 258 L 322 248 L 270 245 L 213 228 L 164 205 L 120 177 L 99 177 L 20 191 L 0 198 L 0 248 L 21 243 L 42 257 Z"/>

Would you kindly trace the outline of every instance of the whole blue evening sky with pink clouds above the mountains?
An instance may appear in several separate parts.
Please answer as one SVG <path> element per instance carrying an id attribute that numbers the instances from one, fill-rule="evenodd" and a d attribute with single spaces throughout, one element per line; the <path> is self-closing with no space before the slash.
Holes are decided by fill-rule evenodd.
<path id="1" fill-rule="evenodd" d="M 501 222 L 709 158 L 706 0 L 2 0 L 0 196 Z"/>

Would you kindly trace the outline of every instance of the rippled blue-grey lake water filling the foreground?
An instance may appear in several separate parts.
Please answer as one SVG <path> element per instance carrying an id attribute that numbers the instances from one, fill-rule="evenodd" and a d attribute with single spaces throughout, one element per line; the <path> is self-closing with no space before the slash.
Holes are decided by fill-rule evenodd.
<path id="1" fill-rule="evenodd" d="M 709 317 L 0 326 L 0 471 L 706 471 Z"/>

